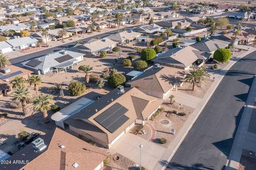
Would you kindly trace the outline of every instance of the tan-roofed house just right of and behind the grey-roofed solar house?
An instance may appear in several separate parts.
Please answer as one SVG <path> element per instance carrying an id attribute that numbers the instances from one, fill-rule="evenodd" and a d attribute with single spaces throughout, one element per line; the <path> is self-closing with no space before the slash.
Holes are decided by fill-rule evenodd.
<path id="1" fill-rule="evenodd" d="M 112 48 L 116 47 L 116 42 L 109 39 L 91 39 L 83 45 L 76 45 L 73 47 L 75 52 L 84 53 L 86 56 L 96 56 L 101 51 L 108 52 Z"/>

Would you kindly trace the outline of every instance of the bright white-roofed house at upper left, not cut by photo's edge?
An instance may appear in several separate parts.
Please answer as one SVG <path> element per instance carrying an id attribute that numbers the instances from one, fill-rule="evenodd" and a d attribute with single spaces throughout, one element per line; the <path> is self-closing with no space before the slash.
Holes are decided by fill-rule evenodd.
<path id="1" fill-rule="evenodd" d="M 35 47 L 37 44 L 37 39 L 34 37 L 22 37 L 22 38 L 15 38 L 15 39 L 9 39 L 5 42 L 10 44 L 13 48 L 13 50 L 21 50 L 26 49 L 28 47 Z"/>

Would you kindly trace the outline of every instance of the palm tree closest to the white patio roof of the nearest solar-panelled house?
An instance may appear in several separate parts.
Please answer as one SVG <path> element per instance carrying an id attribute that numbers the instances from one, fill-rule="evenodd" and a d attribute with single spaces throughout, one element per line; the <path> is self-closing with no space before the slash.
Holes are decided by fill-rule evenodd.
<path id="1" fill-rule="evenodd" d="M 35 111 L 40 110 L 43 113 L 45 122 L 49 122 L 47 111 L 50 111 L 52 105 L 53 105 L 53 97 L 51 95 L 40 94 L 33 101 L 33 107 Z"/>

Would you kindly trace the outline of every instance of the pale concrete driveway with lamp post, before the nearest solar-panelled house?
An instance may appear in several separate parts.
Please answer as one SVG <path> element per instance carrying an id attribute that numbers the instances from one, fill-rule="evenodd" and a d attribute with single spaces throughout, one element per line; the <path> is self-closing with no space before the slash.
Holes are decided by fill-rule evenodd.
<path id="1" fill-rule="evenodd" d="M 124 134 L 109 151 L 110 154 L 117 152 L 140 165 L 139 145 L 143 146 L 141 149 L 142 166 L 149 170 L 153 169 L 166 149 L 137 135 L 131 133 Z"/>

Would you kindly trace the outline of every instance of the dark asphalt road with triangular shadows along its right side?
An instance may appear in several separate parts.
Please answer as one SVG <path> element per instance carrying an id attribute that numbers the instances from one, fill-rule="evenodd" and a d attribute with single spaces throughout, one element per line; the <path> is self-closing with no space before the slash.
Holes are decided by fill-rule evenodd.
<path id="1" fill-rule="evenodd" d="M 167 169 L 225 169 L 256 73 L 255 55 L 245 56 L 227 72 Z"/>

